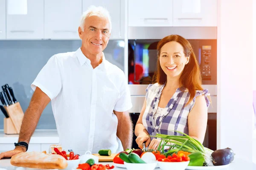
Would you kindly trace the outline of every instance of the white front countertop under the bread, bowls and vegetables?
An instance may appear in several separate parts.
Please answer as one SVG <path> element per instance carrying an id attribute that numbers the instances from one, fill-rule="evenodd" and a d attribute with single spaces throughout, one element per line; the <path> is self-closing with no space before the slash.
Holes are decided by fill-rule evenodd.
<path id="1" fill-rule="evenodd" d="M 99 162 L 99 164 L 109 164 L 113 165 L 113 162 Z M 15 167 L 10 164 L 10 159 L 0 160 L 0 170 L 36 170 L 31 168 Z M 124 168 L 115 167 L 113 170 L 125 170 Z M 160 170 L 156 168 L 155 170 Z M 209 170 L 209 169 L 208 169 Z M 252 162 L 244 161 L 242 159 L 234 159 L 229 167 L 221 170 L 256 170 L 256 164 Z"/>

